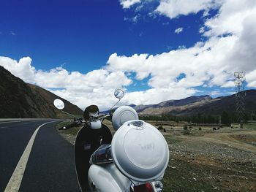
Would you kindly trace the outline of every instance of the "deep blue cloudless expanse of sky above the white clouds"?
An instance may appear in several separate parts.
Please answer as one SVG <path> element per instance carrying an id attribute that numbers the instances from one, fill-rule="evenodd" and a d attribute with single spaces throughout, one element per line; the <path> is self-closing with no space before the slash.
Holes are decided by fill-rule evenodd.
<path id="1" fill-rule="evenodd" d="M 0 53 L 30 56 L 39 69 L 64 64 L 70 71 L 89 72 L 105 65 L 112 53 L 155 55 L 191 47 L 201 38 L 202 14 L 175 20 L 144 14 L 135 23 L 129 20 L 134 13 L 118 1 L 3 1 Z M 175 34 L 181 26 L 184 33 Z"/>

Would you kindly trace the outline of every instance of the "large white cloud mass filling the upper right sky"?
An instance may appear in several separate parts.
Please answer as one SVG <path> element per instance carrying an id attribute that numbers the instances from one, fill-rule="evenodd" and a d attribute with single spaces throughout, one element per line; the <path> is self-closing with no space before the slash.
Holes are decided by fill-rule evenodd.
<path id="1" fill-rule="evenodd" d="M 232 88 L 233 72 L 236 71 L 245 71 L 248 86 L 255 87 L 255 6 L 256 1 L 251 0 L 160 1 L 157 11 L 170 19 L 220 7 L 218 14 L 206 19 L 205 25 L 200 28 L 200 33 L 208 39 L 192 47 L 179 47 L 178 50 L 158 55 L 144 53 L 126 56 L 113 53 L 108 59 L 107 69 L 135 72 L 137 80 L 150 77 L 148 85 L 152 88 L 151 94 L 155 92 L 154 95 L 162 88 Z M 181 74 L 185 74 L 185 77 L 178 79 Z M 184 93 L 180 96 L 184 96 Z"/>

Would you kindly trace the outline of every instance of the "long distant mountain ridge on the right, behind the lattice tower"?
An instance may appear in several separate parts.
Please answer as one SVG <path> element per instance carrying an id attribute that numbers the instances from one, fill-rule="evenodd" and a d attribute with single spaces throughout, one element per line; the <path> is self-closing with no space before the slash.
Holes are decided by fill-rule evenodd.
<path id="1" fill-rule="evenodd" d="M 247 90 L 246 112 L 256 111 L 256 90 Z M 236 112 L 236 94 L 212 99 L 211 96 L 190 96 L 186 99 L 163 101 L 159 104 L 134 107 L 140 115 L 196 115 L 197 113 L 220 115 L 224 110 Z"/>

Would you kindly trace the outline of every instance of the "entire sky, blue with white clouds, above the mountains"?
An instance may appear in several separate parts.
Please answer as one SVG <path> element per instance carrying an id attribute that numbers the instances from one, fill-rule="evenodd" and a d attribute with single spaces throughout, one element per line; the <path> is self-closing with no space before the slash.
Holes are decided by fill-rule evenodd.
<path id="1" fill-rule="evenodd" d="M 0 65 L 84 109 L 256 88 L 255 0 L 1 0 Z"/>

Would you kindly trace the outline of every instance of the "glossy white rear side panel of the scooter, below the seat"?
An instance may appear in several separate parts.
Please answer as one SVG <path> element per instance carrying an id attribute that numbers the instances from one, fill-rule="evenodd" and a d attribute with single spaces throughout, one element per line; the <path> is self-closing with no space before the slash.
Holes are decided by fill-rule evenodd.
<path id="1" fill-rule="evenodd" d="M 115 164 L 102 164 L 90 166 L 88 172 L 89 187 L 91 191 L 121 192 L 129 191 L 131 181 L 118 171 Z"/>

